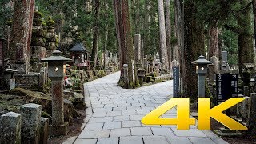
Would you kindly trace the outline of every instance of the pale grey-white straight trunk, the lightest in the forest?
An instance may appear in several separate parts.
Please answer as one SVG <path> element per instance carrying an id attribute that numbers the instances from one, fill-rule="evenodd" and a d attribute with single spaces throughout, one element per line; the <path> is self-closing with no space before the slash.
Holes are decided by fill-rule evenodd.
<path id="1" fill-rule="evenodd" d="M 164 69 L 168 68 L 168 55 L 166 49 L 166 26 L 165 26 L 165 14 L 163 0 L 158 0 L 158 18 L 160 29 L 160 50 L 161 50 L 161 62 Z"/>

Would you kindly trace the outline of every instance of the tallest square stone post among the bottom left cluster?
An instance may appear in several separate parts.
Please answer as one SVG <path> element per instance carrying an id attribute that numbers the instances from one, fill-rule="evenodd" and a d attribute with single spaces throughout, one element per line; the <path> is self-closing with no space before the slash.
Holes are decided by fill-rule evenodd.
<path id="1" fill-rule="evenodd" d="M 30 103 L 21 106 L 22 142 L 39 143 L 41 112 L 41 105 Z"/>

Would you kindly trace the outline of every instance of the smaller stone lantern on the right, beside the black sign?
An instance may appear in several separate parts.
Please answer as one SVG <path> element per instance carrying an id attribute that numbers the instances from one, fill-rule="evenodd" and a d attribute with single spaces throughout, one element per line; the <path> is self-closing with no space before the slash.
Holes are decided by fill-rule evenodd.
<path id="1" fill-rule="evenodd" d="M 206 74 L 207 74 L 207 65 L 212 62 L 207 61 L 204 56 L 200 56 L 198 60 L 192 62 L 196 65 L 196 72 L 198 74 L 198 98 L 205 97 L 205 86 L 206 86 Z"/>

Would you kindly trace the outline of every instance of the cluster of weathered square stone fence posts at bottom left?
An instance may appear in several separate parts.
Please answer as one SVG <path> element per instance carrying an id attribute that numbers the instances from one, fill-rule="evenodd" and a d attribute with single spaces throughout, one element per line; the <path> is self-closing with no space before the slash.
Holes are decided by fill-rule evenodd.
<path id="1" fill-rule="evenodd" d="M 49 119 L 41 118 L 42 106 L 26 104 L 19 114 L 10 112 L 0 117 L 0 143 L 42 143 L 48 142 Z"/>

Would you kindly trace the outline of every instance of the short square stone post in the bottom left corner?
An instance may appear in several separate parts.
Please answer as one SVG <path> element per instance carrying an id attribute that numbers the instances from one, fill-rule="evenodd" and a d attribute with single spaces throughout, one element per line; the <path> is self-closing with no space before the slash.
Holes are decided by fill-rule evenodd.
<path id="1" fill-rule="evenodd" d="M 10 112 L 0 118 L 0 143 L 21 143 L 22 117 L 20 114 Z"/>

